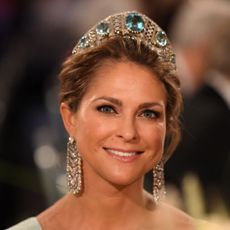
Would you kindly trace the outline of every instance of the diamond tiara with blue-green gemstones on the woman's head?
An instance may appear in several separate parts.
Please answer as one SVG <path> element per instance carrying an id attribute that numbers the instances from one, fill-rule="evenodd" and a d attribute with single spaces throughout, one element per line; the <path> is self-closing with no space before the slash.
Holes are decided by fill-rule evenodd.
<path id="1" fill-rule="evenodd" d="M 72 54 L 98 47 L 113 37 L 126 37 L 146 45 L 163 62 L 176 69 L 176 56 L 166 33 L 149 17 L 135 11 L 108 16 L 86 32 L 74 47 Z"/>

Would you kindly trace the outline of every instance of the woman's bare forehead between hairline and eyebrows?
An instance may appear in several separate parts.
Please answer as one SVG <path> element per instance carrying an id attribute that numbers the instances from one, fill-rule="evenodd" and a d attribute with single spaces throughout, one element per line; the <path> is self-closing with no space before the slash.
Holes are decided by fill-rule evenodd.
<path id="1" fill-rule="evenodd" d="M 89 94 L 106 94 L 166 102 L 167 92 L 159 77 L 148 67 L 127 60 L 105 60 L 95 71 L 86 91 Z"/>

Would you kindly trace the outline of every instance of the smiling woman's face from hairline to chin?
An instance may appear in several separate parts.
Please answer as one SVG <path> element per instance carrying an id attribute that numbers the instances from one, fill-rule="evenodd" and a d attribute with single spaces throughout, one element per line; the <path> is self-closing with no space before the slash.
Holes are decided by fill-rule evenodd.
<path id="1" fill-rule="evenodd" d="M 163 153 L 166 100 L 148 68 L 105 61 L 65 122 L 83 158 L 84 180 L 128 185 L 153 168 Z"/>

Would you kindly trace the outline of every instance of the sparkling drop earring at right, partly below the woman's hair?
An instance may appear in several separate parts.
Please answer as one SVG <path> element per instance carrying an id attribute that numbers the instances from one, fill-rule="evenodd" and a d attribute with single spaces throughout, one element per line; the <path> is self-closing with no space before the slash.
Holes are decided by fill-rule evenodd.
<path id="1" fill-rule="evenodd" d="M 165 195 L 164 162 L 161 160 L 153 169 L 153 199 L 158 203 Z"/>

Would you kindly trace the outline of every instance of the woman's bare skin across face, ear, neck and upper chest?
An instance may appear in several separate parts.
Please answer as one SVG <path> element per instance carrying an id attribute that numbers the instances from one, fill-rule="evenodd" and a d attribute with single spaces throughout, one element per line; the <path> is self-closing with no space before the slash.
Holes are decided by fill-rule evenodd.
<path id="1" fill-rule="evenodd" d="M 64 125 L 83 159 L 84 192 L 66 195 L 39 215 L 44 229 L 152 229 L 166 223 L 159 214 L 168 212 L 181 219 L 143 191 L 144 174 L 163 154 L 166 102 L 164 85 L 148 68 L 107 60 L 75 113 L 61 104 Z M 138 154 L 118 157 L 115 150 Z"/>

